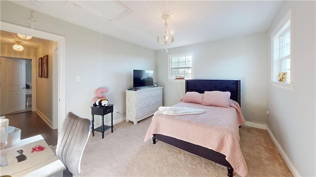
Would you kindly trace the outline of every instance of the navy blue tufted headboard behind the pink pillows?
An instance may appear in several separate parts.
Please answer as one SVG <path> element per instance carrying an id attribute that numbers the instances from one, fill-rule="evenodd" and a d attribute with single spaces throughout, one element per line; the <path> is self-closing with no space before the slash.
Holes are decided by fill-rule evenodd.
<path id="1" fill-rule="evenodd" d="M 240 80 L 206 80 L 206 79 L 192 79 L 186 80 L 186 93 L 198 92 L 204 93 L 204 91 L 229 91 L 231 92 L 231 99 L 236 101 L 239 106 L 240 92 L 241 92 Z"/>

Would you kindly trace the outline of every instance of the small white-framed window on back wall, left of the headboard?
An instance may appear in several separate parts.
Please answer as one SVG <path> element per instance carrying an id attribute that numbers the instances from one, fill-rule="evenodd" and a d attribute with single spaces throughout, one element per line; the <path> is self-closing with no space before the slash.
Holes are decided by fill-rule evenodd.
<path id="1" fill-rule="evenodd" d="M 176 78 L 192 79 L 193 78 L 193 53 L 181 53 L 168 55 L 169 70 L 168 79 Z"/>

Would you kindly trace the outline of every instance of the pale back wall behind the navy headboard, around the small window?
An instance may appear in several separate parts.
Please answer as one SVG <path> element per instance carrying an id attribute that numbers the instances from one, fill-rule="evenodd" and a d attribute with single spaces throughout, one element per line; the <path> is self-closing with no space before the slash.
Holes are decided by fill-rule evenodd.
<path id="1" fill-rule="evenodd" d="M 172 106 L 185 94 L 184 82 L 168 81 L 168 55 L 194 52 L 195 79 L 240 79 L 241 108 L 246 121 L 267 124 L 267 34 L 258 33 L 157 51 L 158 85 L 163 105 Z"/>

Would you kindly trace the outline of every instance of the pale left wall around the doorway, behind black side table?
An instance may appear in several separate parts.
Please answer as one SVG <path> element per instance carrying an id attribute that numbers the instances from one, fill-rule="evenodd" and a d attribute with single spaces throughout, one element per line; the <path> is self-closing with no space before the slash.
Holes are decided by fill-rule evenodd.
<path id="1" fill-rule="evenodd" d="M 0 1 L 1 21 L 29 27 L 26 21 L 31 9 L 9 1 Z M 107 99 L 114 109 L 125 112 L 125 92 L 132 87 L 132 70 L 154 70 L 155 51 L 108 35 L 34 12 L 34 29 L 66 37 L 66 112 L 73 111 L 91 118 L 91 109 L 98 87 L 107 87 Z M 100 24 L 102 25 L 102 24 Z M 80 76 L 80 81 L 76 81 Z M 96 116 L 97 117 L 97 116 Z M 124 115 L 114 113 L 115 121 Z M 110 115 L 106 116 L 110 121 Z M 96 119 L 96 126 L 101 121 Z"/>

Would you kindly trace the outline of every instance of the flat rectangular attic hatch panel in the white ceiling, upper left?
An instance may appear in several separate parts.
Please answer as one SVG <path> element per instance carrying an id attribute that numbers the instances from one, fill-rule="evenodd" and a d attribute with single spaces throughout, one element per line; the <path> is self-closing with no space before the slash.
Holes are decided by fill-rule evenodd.
<path id="1" fill-rule="evenodd" d="M 116 20 L 134 12 L 118 0 L 68 0 L 66 3 L 108 21 Z"/>

